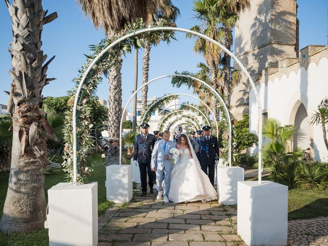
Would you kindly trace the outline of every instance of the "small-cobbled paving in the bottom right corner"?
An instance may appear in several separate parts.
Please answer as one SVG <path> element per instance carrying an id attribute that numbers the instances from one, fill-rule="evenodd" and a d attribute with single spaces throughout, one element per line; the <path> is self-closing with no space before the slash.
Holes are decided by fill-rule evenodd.
<path id="1" fill-rule="evenodd" d="M 288 221 L 288 245 L 328 245 L 328 217 Z"/>

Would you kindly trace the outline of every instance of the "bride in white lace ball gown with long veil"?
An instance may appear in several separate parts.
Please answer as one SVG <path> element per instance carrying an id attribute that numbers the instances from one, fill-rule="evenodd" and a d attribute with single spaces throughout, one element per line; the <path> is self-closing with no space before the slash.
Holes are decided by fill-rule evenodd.
<path id="1" fill-rule="evenodd" d="M 178 138 L 180 154 L 171 171 L 169 200 L 174 203 L 217 199 L 217 192 L 209 177 L 201 170 L 196 153 L 191 148 L 188 136 L 182 133 Z"/>

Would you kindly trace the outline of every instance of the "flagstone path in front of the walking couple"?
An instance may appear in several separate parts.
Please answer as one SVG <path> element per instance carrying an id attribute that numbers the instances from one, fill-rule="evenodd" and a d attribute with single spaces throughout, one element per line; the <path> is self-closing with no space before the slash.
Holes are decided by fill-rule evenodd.
<path id="1" fill-rule="evenodd" d="M 237 246 L 237 210 L 217 201 L 164 203 L 157 191 L 99 216 L 99 246 Z"/>

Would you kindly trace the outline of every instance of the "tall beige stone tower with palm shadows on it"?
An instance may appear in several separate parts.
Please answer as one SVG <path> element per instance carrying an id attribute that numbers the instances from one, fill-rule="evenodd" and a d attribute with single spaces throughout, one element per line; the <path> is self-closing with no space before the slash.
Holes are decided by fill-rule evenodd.
<path id="1" fill-rule="evenodd" d="M 296 0 L 252 0 L 251 8 L 240 14 L 235 28 L 235 54 L 255 81 L 267 67 L 298 56 Z M 235 64 L 235 68 L 239 66 Z M 240 119 L 249 112 L 250 83 L 241 81 L 231 94 L 232 114 Z"/>

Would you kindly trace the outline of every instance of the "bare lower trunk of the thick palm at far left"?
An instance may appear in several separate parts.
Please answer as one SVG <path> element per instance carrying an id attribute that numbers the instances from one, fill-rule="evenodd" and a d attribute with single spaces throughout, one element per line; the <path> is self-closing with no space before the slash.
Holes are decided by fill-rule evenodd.
<path id="1" fill-rule="evenodd" d="M 0 221 L 0 231 L 6 234 L 42 229 L 46 219 L 43 175 L 44 163 L 47 160 L 46 140 L 43 132 L 38 130 L 34 147 L 26 147 L 22 154 L 19 141 L 19 135 L 22 138 L 21 133 L 19 134 L 22 124 L 18 121 L 18 111 L 16 109 L 13 116 L 11 168 L 4 212 Z M 30 122 L 27 122 L 27 125 L 29 124 Z"/>

